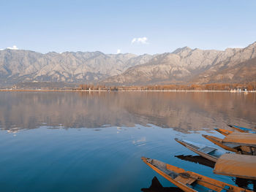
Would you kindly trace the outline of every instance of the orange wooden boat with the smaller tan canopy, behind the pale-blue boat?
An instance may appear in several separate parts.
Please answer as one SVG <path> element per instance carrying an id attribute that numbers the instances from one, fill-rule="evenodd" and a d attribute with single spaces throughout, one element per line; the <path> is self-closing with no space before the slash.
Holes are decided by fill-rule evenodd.
<path id="1" fill-rule="evenodd" d="M 225 150 L 230 150 L 244 155 L 256 155 L 255 134 L 233 132 L 232 134 L 228 134 L 225 139 L 205 134 L 202 136 Z"/>

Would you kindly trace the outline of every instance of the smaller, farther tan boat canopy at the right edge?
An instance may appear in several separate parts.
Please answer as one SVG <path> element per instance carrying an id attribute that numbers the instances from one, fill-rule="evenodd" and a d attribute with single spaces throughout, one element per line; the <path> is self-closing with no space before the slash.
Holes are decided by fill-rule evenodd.
<path id="1" fill-rule="evenodd" d="M 222 142 L 236 143 L 239 145 L 256 147 L 256 134 L 249 133 L 232 133 L 228 134 Z"/>

